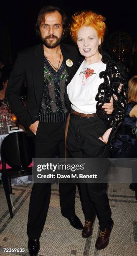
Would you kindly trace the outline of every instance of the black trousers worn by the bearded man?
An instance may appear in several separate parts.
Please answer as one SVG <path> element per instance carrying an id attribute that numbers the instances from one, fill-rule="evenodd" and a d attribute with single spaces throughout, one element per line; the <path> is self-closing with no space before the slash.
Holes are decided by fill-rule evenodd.
<path id="1" fill-rule="evenodd" d="M 36 158 L 54 158 L 59 151 L 60 158 L 65 157 L 64 141 L 65 123 L 43 123 L 39 122 L 36 141 Z M 75 192 L 76 184 L 60 184 L 60 204 L 61 213 L 69 218 L 75 215 Z M 39 238 L 41 236 L 48 207 L 51 198 L 51 184 L 33 184 L 30 195 L 30 205 L 28 212 L 27 234 L 29 238 Z"/>

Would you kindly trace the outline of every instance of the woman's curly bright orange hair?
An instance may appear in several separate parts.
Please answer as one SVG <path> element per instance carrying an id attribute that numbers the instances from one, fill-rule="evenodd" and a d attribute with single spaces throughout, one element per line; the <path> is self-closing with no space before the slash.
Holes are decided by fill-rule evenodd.
<path id="1" fill-rule="evenodd" d="M 103 41 L 106 24 L 104 23 L 105 18 L 102 15 L 92 11 L 82 11 L 81 13 L 75 13 L 72 18 L 71 37 L 75 42 L 77 41 L 77 31 L 83 26 L 91 26 L 94 28 L 98 37 L 101 38 L 101 42 Z"/>

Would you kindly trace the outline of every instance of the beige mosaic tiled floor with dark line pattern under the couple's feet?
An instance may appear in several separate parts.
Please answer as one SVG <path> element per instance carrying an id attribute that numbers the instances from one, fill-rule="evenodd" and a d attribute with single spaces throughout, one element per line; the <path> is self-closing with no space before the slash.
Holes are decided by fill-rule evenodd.
<path id="1" fill-rule="evenodd" d="M 13 187 L 14 218 L 11 219 L 3 186 L 0 186 L 0 256 L 28 256 L 26 235 L 28 205 L 32 184 Z M 108 191 L 114 228 L 109 246 L 97 251 L 95 242 L 99 232 L 95 220 L 93 235 L 81 237 L 66 218 L 61 216 L 58 185 L 52 185 L 51 203 L 46 225 L 41 235 L 39 256 L 136 256 L 137 255 L 137 201 L 128 184 L 110 184 Z M 76 214 L 84 223 L 79 193 L 76 192 Z M 9 253 L 4 248 L 24 248 L 25 252 Z"/>

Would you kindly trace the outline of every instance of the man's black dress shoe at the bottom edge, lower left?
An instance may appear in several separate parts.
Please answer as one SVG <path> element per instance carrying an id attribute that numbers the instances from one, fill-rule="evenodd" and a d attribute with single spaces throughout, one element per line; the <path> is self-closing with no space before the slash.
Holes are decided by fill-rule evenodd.
<path id="1" fill-rule="evenodd" d="M 30 253 L 30 256 L 36 256 L 38 255 L 38 252 L 40 250 L 40 240 L 37 239 L 28 239 L 28 251 Z"/>

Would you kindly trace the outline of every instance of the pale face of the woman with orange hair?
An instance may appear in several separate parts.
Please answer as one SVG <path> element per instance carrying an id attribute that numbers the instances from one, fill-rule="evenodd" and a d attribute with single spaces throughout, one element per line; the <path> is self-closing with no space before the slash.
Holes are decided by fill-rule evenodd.
<path id="1" fill-rule="evenodd" d="M 90 26 L 84 26 L 77 32 L 77 45 L 81 55 L 91 57 L 96 55 L 101 38 L 98 38 L 96 30 Z"/>

